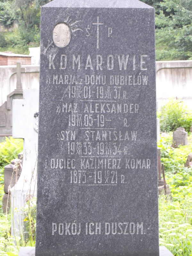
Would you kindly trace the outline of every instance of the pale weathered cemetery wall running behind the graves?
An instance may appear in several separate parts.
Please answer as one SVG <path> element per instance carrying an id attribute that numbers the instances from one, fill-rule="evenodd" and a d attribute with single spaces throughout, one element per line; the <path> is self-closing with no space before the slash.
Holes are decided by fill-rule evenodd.
<path id="1" fill-rule="evenodd" d="M 16 89 L 15 66 L 0 67 L 0 106 L 7 95 Z M 23 69 L 24 68 L 24 69 Z M 22 66 L 21 81 L 23 89 L 39 88 L 39 66 Z M 178 98 L 192 109 L 192 60 L 157 61 L 156 88 L 160 108 L 169 98 Z"/>

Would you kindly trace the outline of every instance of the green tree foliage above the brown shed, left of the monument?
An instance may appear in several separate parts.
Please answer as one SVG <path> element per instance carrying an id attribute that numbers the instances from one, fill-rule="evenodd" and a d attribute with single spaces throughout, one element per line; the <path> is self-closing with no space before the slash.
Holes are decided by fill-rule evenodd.
<path id="1" fill-rule="evenodd" d="M 40 44 L 40 7 L 51 0 L 4 0 L 0 3 L 0 22 L 11 26 L 13 21 L 18 24 L 12 33 L 5 33 L 7 48 L 26 51 L 28 44 Z M 3 44 L 4 45 L 4 44 Z M 3 47 L 3 46 L 0 46 Z"/>

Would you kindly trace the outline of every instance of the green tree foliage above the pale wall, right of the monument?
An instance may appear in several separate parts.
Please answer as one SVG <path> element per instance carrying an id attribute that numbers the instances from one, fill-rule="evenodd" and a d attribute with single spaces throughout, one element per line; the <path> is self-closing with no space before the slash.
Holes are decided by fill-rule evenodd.
<path id="1" fill-rule="evenodd" d="M 192 60 L 192 0 L 143 0 L 156 8 L 156 59 Z"/>

